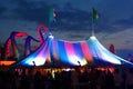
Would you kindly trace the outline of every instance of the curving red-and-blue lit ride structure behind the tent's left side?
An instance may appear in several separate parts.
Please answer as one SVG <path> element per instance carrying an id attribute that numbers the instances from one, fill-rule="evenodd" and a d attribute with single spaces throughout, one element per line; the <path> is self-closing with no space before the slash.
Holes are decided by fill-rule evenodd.
<path id="1" fill-rule="evenodd" d="M 17 31 L 11 32 L 10 37 L 4 43 L 6 57 L 8 59 L 13 58 L 13 59 L 19 60 L 20 56 L 19 56 L 19 49 L 18 49 L 17 41 L 16 41 L 17 38 L 27 37 L 25 42 L 24 42 L 24 56 L 28 56 L 32 51 L 31 40 L 37 41 L 37 42 L 40 41 L 40 46 L 41 46 L 44 41 L 43 34 L 47 33 L 48 28 L 44 24 L 40 24 L 38 26 L 37 29 L 38 29 L 38 36 L 40 40 L 34 39 L 33 37 L 29 36 L 27 32 L 17 32 Z M 42 30 L 44 31 L 41 32 Z"/>

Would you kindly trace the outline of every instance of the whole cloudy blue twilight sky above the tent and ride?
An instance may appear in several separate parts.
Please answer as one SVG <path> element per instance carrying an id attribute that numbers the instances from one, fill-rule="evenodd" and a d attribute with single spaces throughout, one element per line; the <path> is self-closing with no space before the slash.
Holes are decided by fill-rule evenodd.
<path id="1" fill-rule="evenodd" d="M 133 0 L 2 0 L 0 1 L 0 46 L 12 31 L 38 38 L 37 27 L 49 24 L 49 8 L 55 8 L 57 21 L 51 24 L 55 38 L 78 41 L 91 34 L 92 8 L 99 12 L 95 37 L 105 47 L 133 55 Z M 20 38 L 21 40 L 21 38 Z M 23 40 L 23 39 L 22 39 Z M 18 41 L 18 44 L 24 42 Z"/>

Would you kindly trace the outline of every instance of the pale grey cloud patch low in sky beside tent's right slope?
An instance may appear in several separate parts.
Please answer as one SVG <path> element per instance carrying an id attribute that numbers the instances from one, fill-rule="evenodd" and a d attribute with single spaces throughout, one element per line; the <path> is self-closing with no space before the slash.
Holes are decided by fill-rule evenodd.
<path id="1" fill-rule="evenodd" d="M 126 29 L 123 31 L 119 31 L 115 33 L 106 33 L 105 36 L 101 36 L 98 33 L 99 40 L 108 47 L 110 43 L 113 43 L 116 49 L 129 49 L 131 50 L 133 47 L 133 28 Z"/>

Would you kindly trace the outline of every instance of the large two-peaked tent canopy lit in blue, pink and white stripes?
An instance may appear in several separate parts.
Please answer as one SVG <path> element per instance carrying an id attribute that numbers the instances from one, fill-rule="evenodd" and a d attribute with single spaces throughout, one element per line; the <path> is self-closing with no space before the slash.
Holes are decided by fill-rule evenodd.
<path id="1" fill-rule="evenodd" d="M 40 48 L 16 63 L 16 66 L 101 66 L 132 65 L 106 50 L 99 40 L 91 36 L 84 41 L 64 41 L 49 34 Z"/>

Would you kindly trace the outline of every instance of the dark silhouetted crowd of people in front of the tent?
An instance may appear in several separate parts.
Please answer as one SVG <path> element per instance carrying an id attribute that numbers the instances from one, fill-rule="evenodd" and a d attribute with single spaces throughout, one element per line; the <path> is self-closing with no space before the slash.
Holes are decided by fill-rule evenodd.
<path id="1" fill-rule="evenodd" d="M 40 71 L 33 73 L 24 69 L 21 75 L 16 71 L 0 71 L 1 89 L 133 89 L 133 69 L 114 69 L 111 71 L 95 68 L 69 71 Z"/>

